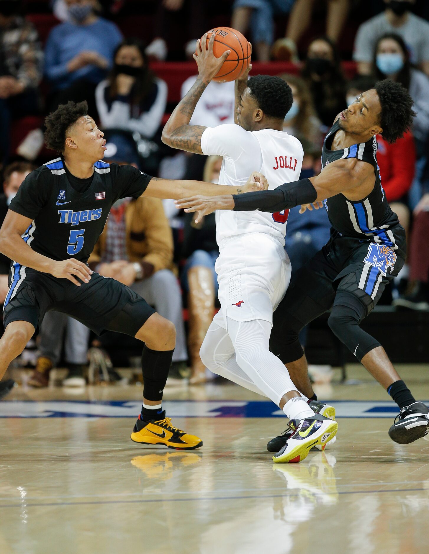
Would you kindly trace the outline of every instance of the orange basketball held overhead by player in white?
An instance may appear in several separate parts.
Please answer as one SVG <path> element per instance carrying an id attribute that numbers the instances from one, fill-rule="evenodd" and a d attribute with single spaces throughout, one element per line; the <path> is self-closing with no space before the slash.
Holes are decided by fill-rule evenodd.
<path id="1" fill-rule="evenodd" d="M 207 44 L 212 34 L 215 34 L 213 54 L 216 58 L 220 58 L 226 50 L 231 50 L 231 54 L 223 62 L 213 81 L 235 81 L 239 79 L 251 63 L 251 49 L 246 37 L 236 29 L 231 29 L 231 27 L 217 27 L 208 31 Z M 202 39 L 203 37 L 201 37 L 201 41 Z M 198 52 L 196 53 L 198 54 Z"/>

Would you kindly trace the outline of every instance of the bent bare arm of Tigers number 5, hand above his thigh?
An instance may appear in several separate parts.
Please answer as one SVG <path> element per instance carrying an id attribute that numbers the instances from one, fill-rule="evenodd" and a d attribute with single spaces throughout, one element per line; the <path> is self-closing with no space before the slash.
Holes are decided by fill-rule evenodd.
<path id="1" fill-rule="evenodd" d="M 81 261 L 74 258 L 63 261 L 52 260 L 47 256 L 34 252 L 22 240 L 22 235 L 31 224 L 31 218 L 9 209 L 0 229 L 0 252 L 28 268 L 50 273 L 54 277 L 68 279 L 75 285 L 81 285 L 75 277 L 79 277 L 79 279 L 88 283 L 93 272 Z"/>

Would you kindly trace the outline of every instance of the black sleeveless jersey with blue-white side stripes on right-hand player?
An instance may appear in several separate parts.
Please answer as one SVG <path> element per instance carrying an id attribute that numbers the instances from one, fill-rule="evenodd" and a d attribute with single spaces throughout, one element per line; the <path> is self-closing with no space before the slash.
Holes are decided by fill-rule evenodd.
<path id="1" fill-rule="evenodd" d="M 398 225 L 399 220 L 390 209 L 381 186 L 375 136 L 367 142 L 354 144 L 343 150 L 330 150 L 335 133 L 339 129 L 337 120 L 325 137 L 321 156 L 322 169 L 335 160 L 357 158 L 374 167 L 375 182 L 370 194 L 357 202 L 348 200 L 341 193 L 326 199 L 324 203 L 331 225 L 340 235 L 365 238 L 395 249 L 396 243 L 391 228 Z"/>

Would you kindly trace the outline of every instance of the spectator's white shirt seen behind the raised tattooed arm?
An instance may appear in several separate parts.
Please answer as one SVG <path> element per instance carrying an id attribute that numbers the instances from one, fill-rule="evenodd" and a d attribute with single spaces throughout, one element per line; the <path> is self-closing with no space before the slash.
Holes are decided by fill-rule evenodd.
<path id="1" fill-rule="evenodd" d="M 186 95 L 195 83 L 197 76 L 192 75 L 182 84 L 180 96 Z M 217 127 L 234 122 L 234 81 L 217 83 L 211 81 L 202 93 L 193 111 L 190 125 Z"/>

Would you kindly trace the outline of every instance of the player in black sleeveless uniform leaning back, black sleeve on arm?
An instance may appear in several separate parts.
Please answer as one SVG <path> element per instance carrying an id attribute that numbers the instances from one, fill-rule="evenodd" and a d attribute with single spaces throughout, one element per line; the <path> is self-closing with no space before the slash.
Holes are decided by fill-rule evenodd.
<path id="1" fill-rule="evenodd" d="M 416 115 L 412 103 L 400 83 L 380 81 L 336 118 L 324 141 L 320 175 L 259 194 L 180 202 L 186 211 L 198 211 L 200 218 L 216 209 L 277 212 L 299 204 L 303 213 L 313 209 L 311 203 L 324 201 L 332 225 L 330 241 L 297 271 L 275 312 L 270 348 L 287 365 L 299 390 L 311 397 L 298 334 L 331 309 L 331 330 L 398 404 L 400 415 L 389 435 L 401 444 L 429 432 L 429 410 L 416 402 L 384 348 L 360 323 L 405 262 L 405 232 L 381 186 L 375 135 L 387 142 L 399 139 Z M 291 436 L 293 429 L 270 441 L 268 450 L 277 450 Z"/>

